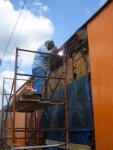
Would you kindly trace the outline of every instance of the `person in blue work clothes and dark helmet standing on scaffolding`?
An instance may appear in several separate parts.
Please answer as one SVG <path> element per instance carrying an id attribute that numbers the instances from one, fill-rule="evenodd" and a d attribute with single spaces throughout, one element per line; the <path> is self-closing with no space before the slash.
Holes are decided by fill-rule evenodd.
<path id="1" fill-rule="evenodd" d="M 57 48 L 53 41 L 46 41 L 37 49 L 37 52 L 55 54 Z M 36 53 L 32 64 L 32 74 L 34 76 L 46 76 L 50 72 L 50 55 Z M 35 77 L 33 89 L 38 95 L 42 95 L 46 78 Z"/>

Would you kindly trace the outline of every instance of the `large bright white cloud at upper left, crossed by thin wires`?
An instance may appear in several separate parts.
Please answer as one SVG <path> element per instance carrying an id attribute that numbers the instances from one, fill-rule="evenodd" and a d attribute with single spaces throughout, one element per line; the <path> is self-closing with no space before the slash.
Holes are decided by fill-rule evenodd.
<path id="1" fill-rule="evenodd" d="M 21 1 L 22 2 L 22 1 Z M 39 1 L 35 1 L 43 11 L 47 11 L 48 7 Z M 20 14 L 19 10 L 15 10 L 10 1 L 0 0 L 0 56 L 2 57 L 6 50 L 6 45 L 11 36 L 16 20 Z M 5 60 L 14 60 L 15 48 L 24 48 L 36 50 L 36 48 L 44 41 L 51 39 L 54 34 L 54 26 L 50 19 L 44 16 L 35 16 L 29 10 L 24 9 L 18 25 L 8 46 Z M 17 40 L 18 39 L 18 40 Z M 17 42 L 16 42 L 17 40 Z M 16 44 L 15 44 L 16 43 Z M 13 53 L 13 54 L 12 54 Z M 24 65 L 29 65 L 26 60 L 28 55 L 24 55 L 22 61 Z M 31 57 L 30 57 L 31 58 Z M 32 58 L 31 61 L 32 62 Z"/>

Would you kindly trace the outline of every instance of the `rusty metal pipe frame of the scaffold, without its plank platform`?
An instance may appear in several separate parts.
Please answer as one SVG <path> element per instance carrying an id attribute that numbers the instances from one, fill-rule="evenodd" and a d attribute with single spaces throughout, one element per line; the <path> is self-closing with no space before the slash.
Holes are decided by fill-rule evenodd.
<path id="1" fill-rule="evenodd" d="M 66 75 L 67 75 L 67 65 L 66 65 L 66 58 L 65 58 L 65 53 L 64 53 L 64 56 L 63 56 L 63 77 L 52 77 L 52 76 L 33 76 L 32 74 L 22 74 L 22 73 L 18 73 L 18 57 L 19 57 L 19 51 L 24 51 L 24 52 L 30 52 L 30 53 L 40 53 L 40 54 L 45 54 L 45 55 L 50 55 L 50 56 L 55 56 L 56 54 L 48 54 L 48 53 L 42 53 L 42 52 L 36 52 L 36 51 L 32 51 L 32 50 L 25 50 L 25 49 L 19 49 L 19 48 L 16 48 L 16 56 L 15 56 L 15 71 L 14 71 L 14 80 L 13 80 L 13 85 L 12 85 L 12 89 L 11 89 L 11 93 L 12 93 L 12 90 L 13 90 L 13 110 L 12 110 L 12 128 L 9 129 L 9 130 L 12 130 L 12 148 L 14 148 L 14 145 L 15 145 L 15 140 L 16 139 L 25 139 L 25 141 L 27 140 L 27 124 L 26 124 L 26 121 L 25 121 L 25 128 L 21 128 L 21 129 L 18 129 L 18 128 L 15 128 L 15 113 L 16 113 L 16 92 L 17 92 L 17 80 L 21 80 L 21 79 L 18 79 L 17 76 L 28 76 L 28 77 L 41 77 L 41 78 L 48 78 L 48 79 L 58 79 L 59 81 L 60 80 L 63 80 L 63 89 L 64 89 L 64 99 L 62 102 L 53 102 L 51 99 L 49 100 L 49 104 L 48 105 L 63 105 L 64 106 L 64 111 L 65 111 L 65 128 L 60 128 L 60 129 L 49 129 L 51 132 L 53 131 L 64 131 L 65 132 L 65 149 L 68 150 L 68 144 L 69 144 L 69 125 L 68 125 L 68 102 L 67 102 L 67 84 L 66 84 Z M 3 83 L 4 84 L 4 83 Z M 3 88 L 4 88 L 4 85 L 3 85 Z M 53 92 L 55 92 L 55 90 L 57 89 L 57 85 L 55 87 L 55 89 L 53 90 Z M 10 99 L 9 99 L 10 101 Z M 2 103 L 3 103 L 3 99 L 2 99 Z M 43 102 L 44 103 L 44 102 Z M 43 104 L 42 104 L 43 105 Z M 45 107 L 45 106 L 44 106 Z M 2 111 L 3 111 L 3 105 L 2 105 Z M 10 113 L 10 110 L 7 110 L 9 113 Z M 44 111 L 43 111 L 43 114 L 45 113 L 46 111 L 46 107 L 44 108 Z M 38 125 L 36 125 L 36 121 L 35 121 L 35 129 L 29 129 L 29 132 L 32 131 L 34 133 L 36 133 L 37 131 L 39 132 L 40 129 L 38 128 L 37 129 L 37 126 L 39 127 L 40 125 L 40 122 L 41 122 L 41 119 L 43 117 L 43 114 L 41 115 L 40 117 L 40 120 L 38 122 Z M 2 113 L 3 115 L 3 113 Z M 3 117 L 2 117 L 3 118 Z M 27 118 L 27 112 L 25 112 L 25 120 Z M 36 119 L 36 114 L 35 114 L 35 119 Z M 2 120 L 3 122 L 3 120 Z M 1 129 L 3 129 L 3 125 L 1 127 Z M 46 129 L 47 130 L 47 129 Z M 46 131 L 43 129 L 43 131 Z M 15 133 L 16 132 L 25 132 L 25 137 L 19 137 L 17 138 L 15 136 Z M 10 138 L 9 138 L 10 139 Z M 56 144 L 57 146 L 60 146 L 60 144 Z M 55 145 L 53 145 L 52 147 L 54 147 Z M 45 147 L 45 145 L 43 145 L 42 147 Z M 42 148 L 41 147 L 41 148 Z M 51 145 L 50 145 L 51 147 Z M 33 147 L 32 147 L 33 148 Z M 38 148 L 38 147 L 37 147 Z M 24 147 L 25 149 L 25 147 Z"/>

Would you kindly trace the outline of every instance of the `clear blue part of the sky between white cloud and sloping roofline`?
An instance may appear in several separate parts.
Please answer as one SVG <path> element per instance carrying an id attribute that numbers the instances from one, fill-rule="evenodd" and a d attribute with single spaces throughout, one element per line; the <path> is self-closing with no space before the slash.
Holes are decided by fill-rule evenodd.
<path id="1" fill-rule="evenodd" d="M 30 1 L 28 0 L 28 3 Z M 15 9 L 20 8 L 17 0 L 11 2 Z M 106 0 L 40 0 L 40 2 L 48 7 L 44 16 L 55 26 L 53 40 L 60 47 Z M 27 7 L 29 7 L 28 3 Z M 40 15 L 38 10 L 35 10 L 35 15 Z"/>

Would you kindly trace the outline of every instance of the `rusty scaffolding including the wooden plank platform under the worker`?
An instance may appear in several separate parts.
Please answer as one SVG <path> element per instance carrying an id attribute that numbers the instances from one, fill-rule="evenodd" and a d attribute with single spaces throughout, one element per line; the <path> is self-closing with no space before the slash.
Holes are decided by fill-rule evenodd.
<path id="1" fill-rule="evenodd" d="M 11 139 L 12 140 L 12 147 L 11 149 L 18 149 L 15 147 L 15 140 L 16 139 L 24 139 L 25 144 L 29 141 L 33 141 L 34 145 L 33 146 L 28 146 L 28 147 L 19 147 L 19 149 L 30 149 L 30 148 L 46 148 L 46 147 L 60 147 L 64 146 L 66 150 L 68 150 L 68 144 L 69 144 L 69 129 L 68 129 L 68 102 L 67 102 L 67 83 L 66 83 L 66 74 L 67 74 L 67 59 L 66 59 L 66 54 L 64 53 L 63 56 L 63 73 L 61 77 L 53 77 L 53 76 L 33 76 L 32 74 L 23 74 L 23 73 L 18 73 L 18 57 L 19 57 L 19 51 L 21 52 L 27 52 L 27 53 L 39 53 L 41 55 L 49 55 L 49 56 L 56 56 L 56 54 L 48 54 L 48 53 L 42 53 L 42 52 L 36 52 L 32 50 L 25 50 L 25 49 L 19 49 L 16 48 L 16 56 L 15 56 L 15 73 L 14 73 L 14 80 L 11 88 L 11 93 L 6 94 L 5 89 L 4 89 L 4 84 L 5 80 L 3 81 L 3 95 L 2 95 L 2 123 L 1 123 L 1 139 L 2 139 L 2 145 L 4 145 L 4 131 L 11 130 L 12 131 L 12 137 L 5 137 L 5 140 Z M 57 89 L 57 86 L 60 82 L 60 80 L 63 81 L 63 90 L 64 90 L 64 99 L 58 99 L 58 100 L 53 100 L 52 96 L 50 97 L 49 100 L 41 99 L 38 95 L 31 96 L 31 95 L 21 95 L 21 97 L 17 96 L 17 80 L 21 80 L 18 78 L 18 76 L 27 76 L 30 77 L 30 79 L 26 80 L 25 85 L 32 86 L 32 81 L 33 78 L 38 77 L 38 78 L 46 78 L 46 79 L 54 79 L 58 80 L 57 85 L 55 86 L 52 96 L 54 92 Z M 8 78 L 7 78 L 8 79 Z M 22 88 L 24 88 L 24 86 Z M 46 89 L 46 88 L 45 88 Z M 9 99 L 7 98 L 7 107 L 4 107 L 4 95 L 7 97 L 9 95 Z M 13 98 L 13 101 L 11 103 L 11 99 Z M 19 101 L 17 101 L 19 99 Z M 47 111 L 47 107 L 52 106 L 52 105 L 63 105 L 64 106 L 64 111 L 65 111 L 65 128 L 58 128 L 58 129 L 51 129 L 50 131 L 63 131 L 65 133 L 65 142 L 64 144 L 54 144 L 54 145 L 42 145 L 40 143 L 40 138 L 43 136 L 43 132 L 47 131 L 48 129 L 41 129 L 39 128 L 41 119 L 44 117 L 45 112 Z M 43 109 L 43 111 L 41 111 Z M 36 121 L 36 116 L 37 116 L 37 110 L 39 110 L 39 120 L 38 122 Z M 23 112 L 25 113 L 25 128 L 16 128 L 15 127 L 15 113 L 16 112 Z M 28 122 L 28 114 L 32 114 L 32 119 L 34 120 L 34 127 L 29 127 L 27 125 Z M 7 114 L 5 119 L 4 114 Z M 12 128 L 8 129 L 5 124 L 8 120 L 8 114 L 11 118 L 11 123 L 12 123 Z M 54 118 L 51 118 L 54 120 Z M 32 121 L 31 121 L 32 122 Z M 15 134 L 17 132 L 24 132 L 25 136 L 24 137 L 17 137 Z M 37 134 L 38 134 L 38 142 L 37 142 Z M 31 138 L 32 137 L 32 138 Z M 6 144 L 6 143 L 5 143 Z M 37 146 L 38 145 L 38 146 Z"/>

